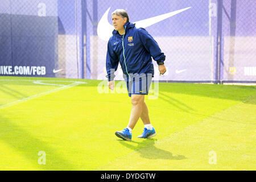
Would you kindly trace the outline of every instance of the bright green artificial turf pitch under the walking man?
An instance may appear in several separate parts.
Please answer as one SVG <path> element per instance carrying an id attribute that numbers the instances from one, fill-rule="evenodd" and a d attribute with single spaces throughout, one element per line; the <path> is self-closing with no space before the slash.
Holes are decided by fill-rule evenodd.
<path id="1" fill-rule="evenodd" d="M 158 98 L 145 97 L 157 135 L 137 138 L 139 119 L 127 142 L 114 133 L 127 126 L 130 97 L 100 93 L 102 83 L 0 77 L 0 169 L 256 169 L 255 86 L 159 83 Z"/>

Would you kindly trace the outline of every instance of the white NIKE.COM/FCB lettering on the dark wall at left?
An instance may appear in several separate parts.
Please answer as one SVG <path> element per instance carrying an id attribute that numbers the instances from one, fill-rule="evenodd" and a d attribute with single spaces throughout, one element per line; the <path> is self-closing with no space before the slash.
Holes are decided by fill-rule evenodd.
<path id="1" fill-rule="evenodd" d="M 0 66 L 0 75 L 46 75 L 46 67 Z"/>

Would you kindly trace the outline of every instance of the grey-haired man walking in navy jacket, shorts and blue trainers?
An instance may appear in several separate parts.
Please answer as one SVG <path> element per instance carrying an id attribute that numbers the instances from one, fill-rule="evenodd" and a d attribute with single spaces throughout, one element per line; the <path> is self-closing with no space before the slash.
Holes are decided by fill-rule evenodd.
<path id="1" fill-rule="evenodd" d="M 144 28 L 137 28 L 129 22 L 129 16 L 125 10 L 115 10 L 112 13 L 114 26 L 113 36 L 108 42 L 106 55 L 106 71 L 108 85 L 114 89 L 114 72 L 118 63 L 121 64 L 123 77 L 127 83 L 129 97 L 131 97 L 130 120 L 125 129 L 115 132 L 115 135 L 124 140 L 131 140 L 131 131 L 139 118 L 144 124 L 144 131 L 139 138 L 150 138 L 156 135 L 154 127 L 150 123 L 148 109 L 144 96 L 148 94 L 154 66 L 152 58 L 158 63 L 159 72 L 164 74 L 166 56 L 161 52 L 158 44 Z"/>

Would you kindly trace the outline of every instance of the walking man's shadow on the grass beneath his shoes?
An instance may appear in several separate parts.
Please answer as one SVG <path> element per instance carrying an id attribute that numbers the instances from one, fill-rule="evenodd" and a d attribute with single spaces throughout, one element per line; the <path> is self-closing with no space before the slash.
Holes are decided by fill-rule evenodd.
<path id="1" fill-rule="evenodd" d="M 130 142 L 128 142 L 126 140 L 118 139 L 118 141 L 123 146 L 138 152 L 142 158 L 166 159 L 166 160 L 187 159 L 187 158 L 185 158 L 184 155 L 174 155 L 169 151 L 155 147 L 155 142 L 157 141 L 157 139 L 145 139 L 142 142 L 131 141 L 131 143 L 137 143 L 138 144 L 137 146 L 133 146 L 132 144 L 130 144 Z"/>

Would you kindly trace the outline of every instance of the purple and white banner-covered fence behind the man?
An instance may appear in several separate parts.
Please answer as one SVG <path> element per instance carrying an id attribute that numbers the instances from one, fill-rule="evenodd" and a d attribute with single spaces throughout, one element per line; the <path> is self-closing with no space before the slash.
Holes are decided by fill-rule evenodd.
<path id="1" fill-rule="evenodd" d="M 105 80 L 111 13 L 125 9 L 130 22 L 146 28 L 166 54 L 167 72 L 155 79 L 256 81 L 254 0 L 0 3 L 1 76 Z M 115 75 L 123 80 L 120 66 Z"/>

